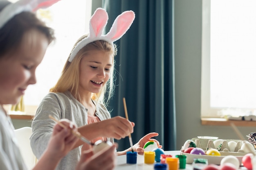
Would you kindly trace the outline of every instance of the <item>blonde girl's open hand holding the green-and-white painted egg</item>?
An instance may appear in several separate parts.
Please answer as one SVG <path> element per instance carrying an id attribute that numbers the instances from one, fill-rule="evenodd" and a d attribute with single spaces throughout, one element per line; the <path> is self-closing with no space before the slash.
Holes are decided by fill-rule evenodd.
<path id="1" fill-rule="evenodd" d="M 157 143 L 158 148 L 162 148 L 162 145 L 159 144 L 159 142 L 156 139 L 151 139 L 151 137 L 155 137 L 158 136 L 158 133 L 152 132 L 152 133 L 148 133 L 147 135 L 145 135 L 144 137 L 142 137 L 139 142 L 135 145 L 132 146 L 132 149 L 137 152 L 139 155 L 143 155 L 144 153 L 144 145 L 146 144 L 146 142 L 153 140 Z"/>

